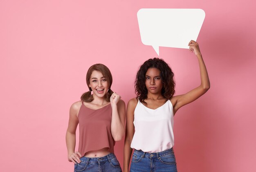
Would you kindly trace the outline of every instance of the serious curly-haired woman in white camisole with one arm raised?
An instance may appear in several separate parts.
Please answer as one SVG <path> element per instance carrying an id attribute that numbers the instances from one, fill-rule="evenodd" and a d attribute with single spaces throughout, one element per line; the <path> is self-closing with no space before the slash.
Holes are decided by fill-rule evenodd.
<path id="1" fill-rule="evenodd" d="M 124 143 L 124 172 L 177 172 L 173 152 L 173 116 L 180 107 L 195 101 L 210 88 L 207 69 L 198 43 L 189 49 L 198 58 L 201 84 L 186 94 L 174 96 L 173 71 L 164 60 L 149 59 L 135 80 L 137 97 L 128 102 Z"/>

